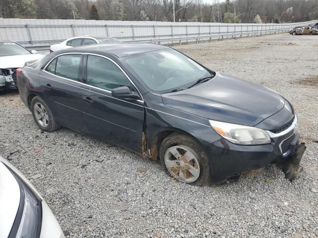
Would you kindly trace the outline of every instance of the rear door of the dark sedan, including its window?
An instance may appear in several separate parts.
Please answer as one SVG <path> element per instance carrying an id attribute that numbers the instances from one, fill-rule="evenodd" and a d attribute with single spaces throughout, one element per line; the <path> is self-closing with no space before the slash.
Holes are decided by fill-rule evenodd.
<path id="1" fill-rule="evenodd" d="M 43 98 L 57 121 L 78 131 L 84 131 L 81 104 L 83 91 L 87 90 L 82 83 L 83 59 L 81 54 L 63 54 L 40 73 Z"/>

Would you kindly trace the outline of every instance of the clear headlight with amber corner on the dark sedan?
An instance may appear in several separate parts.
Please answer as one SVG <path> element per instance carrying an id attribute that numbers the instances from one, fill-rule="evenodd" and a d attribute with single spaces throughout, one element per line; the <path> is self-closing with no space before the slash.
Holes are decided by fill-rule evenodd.
<path id="1" fill-rule="evenodd" d="M 209 120 L 213 129 L 222 137 L 239 145 L 261 145 L 271 142 L 269 135 L 263 129 L 237 125 L 216 120 Z"/>

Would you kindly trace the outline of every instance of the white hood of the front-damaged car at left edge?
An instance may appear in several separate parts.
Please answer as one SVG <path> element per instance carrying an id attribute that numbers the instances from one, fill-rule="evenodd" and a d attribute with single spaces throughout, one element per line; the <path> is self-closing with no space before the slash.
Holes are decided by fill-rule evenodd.
<path id="1" fill-rule="evenodd" d="M 27 54 L 17 56 L 2 56 L 0 57 L 0 68 L 19 68 L 23 67 L 24 63 L 31 60 L 38 60 L 43 55 Z"/>

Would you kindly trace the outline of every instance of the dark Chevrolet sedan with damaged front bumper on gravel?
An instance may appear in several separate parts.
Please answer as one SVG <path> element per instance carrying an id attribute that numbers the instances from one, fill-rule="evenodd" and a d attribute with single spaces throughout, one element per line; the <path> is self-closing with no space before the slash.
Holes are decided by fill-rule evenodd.
<path id="1" fill-rule="evenodd" d="M 159 159 L 182 182 L 224 182 L 295 155 L 287 99 L 165 46 L 77 47 L 19 72 L 20 97 L 42 130 L 66 126 Z"/>

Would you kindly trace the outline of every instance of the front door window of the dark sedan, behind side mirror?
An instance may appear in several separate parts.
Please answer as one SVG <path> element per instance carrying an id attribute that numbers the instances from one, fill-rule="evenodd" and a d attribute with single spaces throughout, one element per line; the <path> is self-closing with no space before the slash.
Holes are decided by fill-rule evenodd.
<path id="1" fill-rule="evenodd" d="M 109 91 L 121 86 L 131 87 L 130 81 L 116 64 L 90 55 L 87 57 L 87 84 Z"/>

